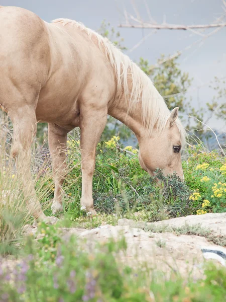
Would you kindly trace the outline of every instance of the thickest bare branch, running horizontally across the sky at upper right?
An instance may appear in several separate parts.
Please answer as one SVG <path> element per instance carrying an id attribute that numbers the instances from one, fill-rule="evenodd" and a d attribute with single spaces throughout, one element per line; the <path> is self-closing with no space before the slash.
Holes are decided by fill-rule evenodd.
<path id="1" fill-rule="evenodd" d="M 119 25 L 119 27 L 127 27 L 127 28 L 173 29 L 173 30 L 206 29 L 206 28 L 216 28 L 216 27 L 225 27 L 225 26 L 226 26 L 226 23 L 182 25 L 182 24 L 151 24 L 151 23 L 143 23 L 143 22 L 141 24 L 120 24 Z"/>

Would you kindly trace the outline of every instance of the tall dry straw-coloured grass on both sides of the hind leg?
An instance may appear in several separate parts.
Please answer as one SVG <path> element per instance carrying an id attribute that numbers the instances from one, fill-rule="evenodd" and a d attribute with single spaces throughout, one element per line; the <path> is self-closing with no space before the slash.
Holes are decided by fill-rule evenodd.
<path id="1" fill-rule="evenodd" d="M 15 243 L 18 243 L 22 236 L 24 225 L 33 223 L 34 219 L 26 206 L 20 171 L 16 170 L 15 160 L 11 156 L 13 127 L 9 118 L 3 112 L 0 114 L 0 254 L 7 254 L 13 252 Z M 42 173 L 43 162 L 39 153 L 40 147 L 34 144 L 31 169 L 34 182 L 41 179 L 36 191 L 39 202 L 46 200 L 45 208 L 48 206 L 47 196 L 53 183 L 42 185 L 46 183 L 46 179 L 50 179 L 51 171 Z"/>

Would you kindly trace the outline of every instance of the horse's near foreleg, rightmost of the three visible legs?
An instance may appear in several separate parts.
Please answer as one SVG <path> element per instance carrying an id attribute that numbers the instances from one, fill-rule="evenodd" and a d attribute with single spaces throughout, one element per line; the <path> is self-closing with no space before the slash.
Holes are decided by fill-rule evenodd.
<path id="1" fill-rule="evenodd" d="M 106 125 L 106 119 L 106 109 L 90 109 L 84 115 L 80 114 L 82 160 L 81 206 L 84 206 L 87 212 L 92 213 L 95 213 L 92 199 L 92 177 L 95 168 L 96 145 Z"/>

